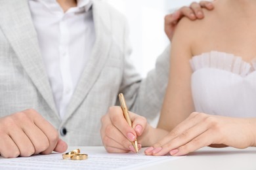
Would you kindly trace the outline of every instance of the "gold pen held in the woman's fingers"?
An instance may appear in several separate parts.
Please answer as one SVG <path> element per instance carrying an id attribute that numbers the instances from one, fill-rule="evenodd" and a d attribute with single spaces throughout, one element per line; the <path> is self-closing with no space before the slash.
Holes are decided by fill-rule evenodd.
<path id="1" fill-rule="evenodd" d="M 129 111 L 128 111 L 126 103 L 125 103 L 125 97 L 123 97 L 123 93 L 119 93 L 118 96 L 119 96 L 119 101 L 120 101 L 121 109 L 123 110 L 123 116 L 125 116 L 125 120 L 129 124 L 129 126 L 133 127 L 133 125 L 131 123 L 130 116 L 129 116 Z M 135 141 L 131 142 L 131 144 L 133 144 L 133 148 L 135 149 L 135 151 L 138 154 L 139 150 L 138 150 L 137 139 L 135 139 Z"/>

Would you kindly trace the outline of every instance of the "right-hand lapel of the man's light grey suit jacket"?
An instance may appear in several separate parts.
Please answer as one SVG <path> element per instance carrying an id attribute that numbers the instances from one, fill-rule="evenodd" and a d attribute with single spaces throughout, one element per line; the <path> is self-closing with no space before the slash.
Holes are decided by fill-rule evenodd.
<path id="1" fill-rule="evenodd" d="M 102 3 L 98 3 L 98 1 L 93 1 L 93 20 L 96 35 L 95 44 L 88 63 L 85 66 L 85 70 L 77 84 L 74 95 L 68 105 L 64 119 L 67 119 L 81 102 L 83 102 L 83 99 L 85 99 L 89 90 L 91 90 L 91 87 L 95 84 L 100 71 L 102 71 L 109 57 L 108 52 L 111 44 L 110 14 L 108 9 L 106 9 Z"/>

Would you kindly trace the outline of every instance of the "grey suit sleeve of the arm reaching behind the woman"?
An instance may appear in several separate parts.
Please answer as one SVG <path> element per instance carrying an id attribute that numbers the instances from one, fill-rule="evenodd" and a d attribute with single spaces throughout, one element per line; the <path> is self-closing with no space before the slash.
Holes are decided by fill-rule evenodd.
<path id="1" fill-rule="evenodd" d="M 155 68 L 148 73 L 146 78 L 142 79 L 129 58 L 131 46 L 128 31 L 125 31 L 123 43 L 123 79 L 119 91 L 124 93 L 129 110 L 152 120 L 160 112 L 167 87 L 170 46 L 167 46 L 158 57 Z"/>

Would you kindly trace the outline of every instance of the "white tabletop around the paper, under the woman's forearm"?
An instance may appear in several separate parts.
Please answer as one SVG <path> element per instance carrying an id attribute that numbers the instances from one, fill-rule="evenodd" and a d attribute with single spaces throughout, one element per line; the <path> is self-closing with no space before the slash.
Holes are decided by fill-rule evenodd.
<path id="1" fill-rule="evenodd" d="M 77 147 L 70 147 L 68 150 L 72 150 Z M 85 146 L 78 147 L 83 150 L 104 150 L 104 147 Z M 210 148 L 205 147 L 200 150 L 188 154 L 188 156 L 167 161 L 164 163 L 151 165 L 141 169 L 196 169 L 196 170 L 220 170 L 220 169 L 256 169 L 256 147 L 250 147 L 245 149 L 236 148 Z"/>

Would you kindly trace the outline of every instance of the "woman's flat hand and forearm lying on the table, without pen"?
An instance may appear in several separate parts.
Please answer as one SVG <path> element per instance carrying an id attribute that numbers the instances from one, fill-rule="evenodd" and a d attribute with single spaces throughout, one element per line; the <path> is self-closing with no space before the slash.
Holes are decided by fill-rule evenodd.
<path id="1" fill-rule="evenodd" d="M 154 146 L 146 155 L 182 156 L 203 146 L 255 146 L 255 118 L 231 118 L 193 112 Z"/>

